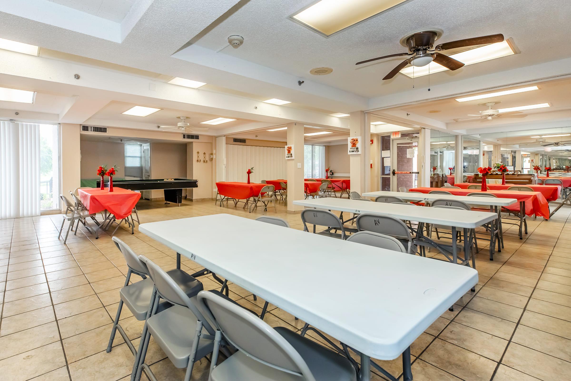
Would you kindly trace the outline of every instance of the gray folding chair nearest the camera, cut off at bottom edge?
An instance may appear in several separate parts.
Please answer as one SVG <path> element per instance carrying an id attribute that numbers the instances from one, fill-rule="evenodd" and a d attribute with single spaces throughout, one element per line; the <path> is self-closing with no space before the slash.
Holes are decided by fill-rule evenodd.
<path id="1" fill-rule="evenodd" d="M 198 300 L 216 327 L 209 380 L 357 381 L 347 358 L 313 340 L 284 327 L 272 328 L 212 292 L 200 292 Z M 222 339 L 238 351 L 217 364 Z"/>

